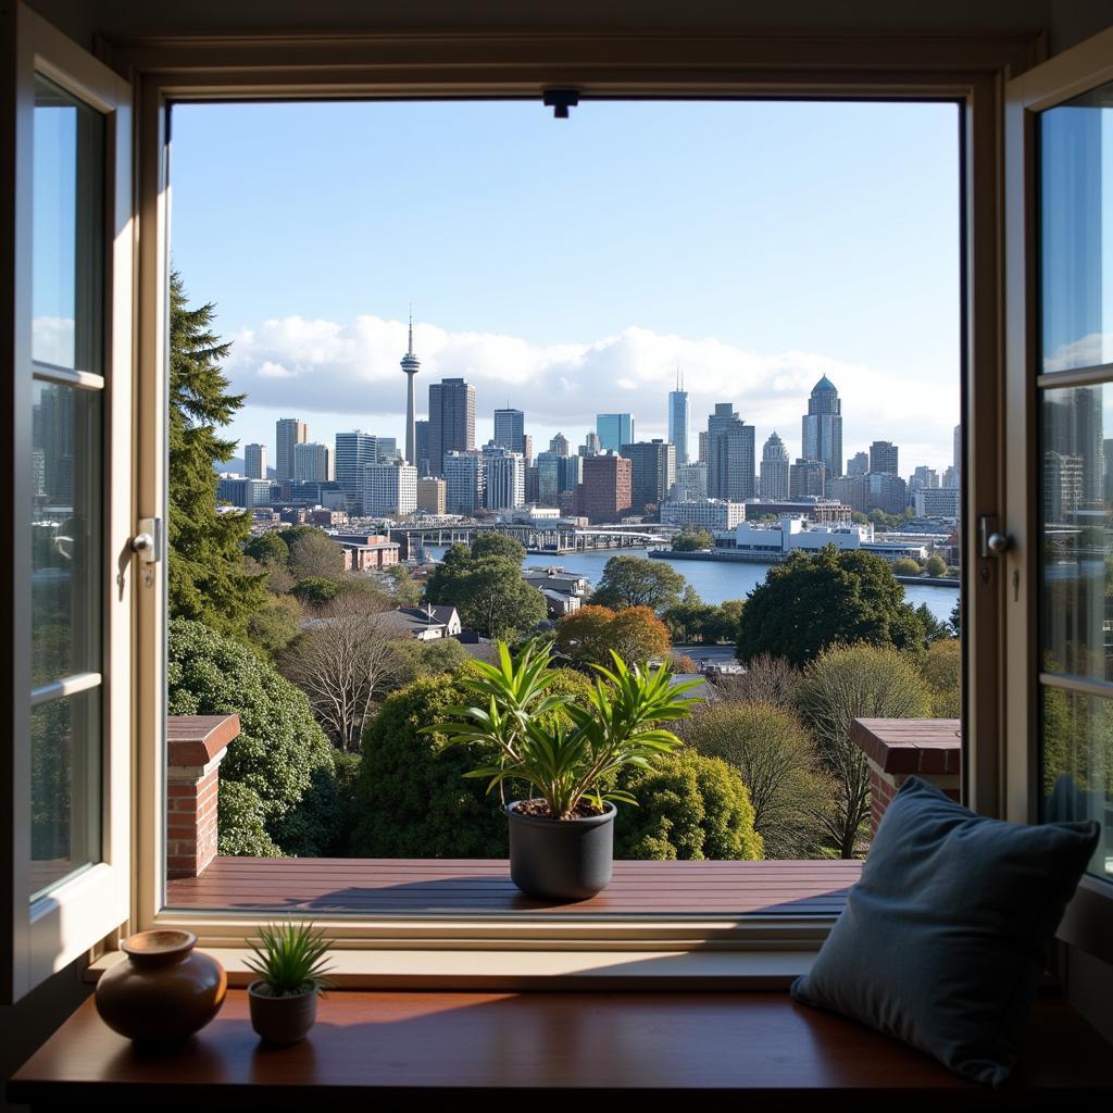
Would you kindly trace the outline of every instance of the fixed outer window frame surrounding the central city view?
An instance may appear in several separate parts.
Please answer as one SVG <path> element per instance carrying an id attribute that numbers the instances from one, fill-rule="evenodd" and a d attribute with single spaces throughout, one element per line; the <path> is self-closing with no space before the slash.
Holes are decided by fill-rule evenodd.
<path id="1" fill-rule="evenodd" d="M 1002 87 L 1036 60 L 1033 37 L 669 36 L 629 33 L 370 33 L 221 37 L 104 45 L 137 90 L 137 469 L 140 516 L 165 514 L 168 258 L 168 107 L 184 100 L 498 98 L 540 100 L 551 86 L 584 97 L 953 100 L 962 107 L 965 358 L 964 798 L 999 815 L 1004 688 L 999 564 L 979 560 L 973 523 L 1003 511 L 1004 414 L 1001 256 Z M 683 59 L 682 62 L 678 59 Z M 590 105 L 580 109 L 590 111 Z M 975 459 L 974 444 L 979 446 Z M 976 573 L 976 574 L 975 574 Z M 976 583 L 977 590 L 973 590 Z M 164 907 L 166 599 L 142 592 L 137 622 L 135 929 L 185 927 L 210 946 L 242 944 L 256 920 Z M 383 917 L 318 919 L 347 947 L 473 949 L 814 949 L 828 919 L 747 917 Z"/>

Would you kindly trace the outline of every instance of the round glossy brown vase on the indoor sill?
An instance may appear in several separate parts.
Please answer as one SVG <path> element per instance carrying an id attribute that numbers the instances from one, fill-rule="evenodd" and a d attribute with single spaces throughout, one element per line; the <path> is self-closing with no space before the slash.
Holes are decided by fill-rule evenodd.
<path id="1" fill-rule="evenodd" d="M 128 956 L 97 983 L 97 1012 L 137 1043 L 174 1043 L 205 1027 L 224 1004 L 228 976 L 194 951 L 191 932 L 140 932 L 120 944 Z"/>

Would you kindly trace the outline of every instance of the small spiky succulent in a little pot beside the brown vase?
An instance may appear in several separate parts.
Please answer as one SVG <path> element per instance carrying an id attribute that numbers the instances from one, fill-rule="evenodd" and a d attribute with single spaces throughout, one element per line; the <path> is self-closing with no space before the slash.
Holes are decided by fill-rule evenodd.
<path id="1" fill-rule="evenodd" d="M 252 1027 L 273 1044 L 297 1043 L 317 1020 L 317 994 L 332 987 L 325 953 L 331 940 L 313 924 L 272 924 L 259 929 L 259 942 L 247 967 L 258 977 L 247 987 Z"/>

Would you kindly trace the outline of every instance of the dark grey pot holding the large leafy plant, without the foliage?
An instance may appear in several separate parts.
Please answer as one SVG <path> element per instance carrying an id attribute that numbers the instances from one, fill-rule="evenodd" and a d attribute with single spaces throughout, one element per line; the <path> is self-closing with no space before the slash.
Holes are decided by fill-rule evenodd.
<path id="1" fill-rule="evenodd" d="M 542 819 L 506 805 L 510 879 L 531 897 L 585 900 L 611 879 L 614 860 L 613 804 L 587 819 Z"/>

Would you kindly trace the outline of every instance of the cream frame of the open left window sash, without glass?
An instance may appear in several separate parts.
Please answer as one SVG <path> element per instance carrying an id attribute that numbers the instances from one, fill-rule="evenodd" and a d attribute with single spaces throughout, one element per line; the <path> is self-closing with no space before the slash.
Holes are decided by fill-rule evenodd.
<path id="1" fill-rule="evenodd" d="M 11 364 L 3 386 L 8 418 L 12 544 L 3 591 L 11 620 L 0 657 L 11 662 L 0 691 L 8 722 L 0 739 L 0 814 L 11 817 L 11 854 L 0 865 L 0 999 L 16 1001 L 93 947 L 130 914 L 131 859 L 131 561 L 132 533 L 132 299 L 134 181 L 130 87 L 22 3 L 14 13 L 14 120 L 11 177 L 11 256 L 2 278 L 3 341 Z M 99 678 L 70 687 L 100 686 L 100 861 L 62 878 L 32 904 L 30 821 L 31 634 L 31 274 L 35 76 L 41 73 L 101 112 L 106 120 L 105 400 L 102 598 L 104 642 Z M 9 242 L 8 237 L 3 237 Z M 40 366 L 40 377 L 42 368 Z M 58 371 L 55 377 L 96 388 L 98 376 Z M 118 579 L 119 577 L 119 579 Z M 9 687 L 10 686 L 10 687 Z M 66 686 L 60 686 L 62 690 Z"/>

